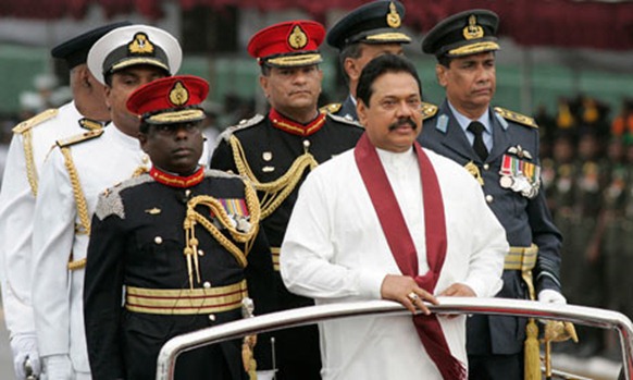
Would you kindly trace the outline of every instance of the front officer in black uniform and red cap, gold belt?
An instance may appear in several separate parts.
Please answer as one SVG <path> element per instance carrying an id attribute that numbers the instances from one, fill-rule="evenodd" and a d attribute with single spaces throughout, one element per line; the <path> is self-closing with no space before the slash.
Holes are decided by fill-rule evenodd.
<path id="1" fill-rule="evenodd" d="M 204 79 L 182 75 L 127 100 L 152 167 L 104 192 L 92 219 L 84 292 L 92 379 L 156 379 L 171 338 L 240 319 L 249 293 L 258 310 L 270 306 L 262 298 L 274 295 L 272 260 L 256 240 L 255 188 L 198 163 L 208 91 Z M 246 379 L 241 343 L 184 353 L 175 378 Z"/>

